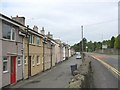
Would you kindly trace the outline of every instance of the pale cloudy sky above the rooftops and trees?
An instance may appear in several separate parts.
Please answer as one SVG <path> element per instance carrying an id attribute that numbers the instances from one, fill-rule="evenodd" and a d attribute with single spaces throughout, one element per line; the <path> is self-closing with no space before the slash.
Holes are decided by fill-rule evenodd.
<path id="1" fill-rule="evenodd" d="M 101 41 L 118 34 L 119 0 L 0 0 L 6 16 L 24 16 L 26 25 L 45 27 L 54 38 L 70 45 L 81 40 Z"/>

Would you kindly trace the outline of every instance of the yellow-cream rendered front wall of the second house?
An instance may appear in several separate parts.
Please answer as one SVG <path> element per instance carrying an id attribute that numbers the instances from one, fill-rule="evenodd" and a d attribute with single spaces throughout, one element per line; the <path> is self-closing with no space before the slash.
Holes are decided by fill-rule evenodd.
<path id="1" fill-rule="evenodd" d="M 36 38 L 35 38 L 36 43 Z M 27 39 L 24 38 L 24 56 L 27 56 Z M 43 43 L 40 38 L 40 45 L 29 44 L 29 56 L 31 56 L 31 76 L 34 76 L 43 71 Z M 33 59 L 34 56 L 34 59 Z M 37 56 L 40 57 L 40 64 L 37 64 Z M 33 66 L 33 60 L 35 65 Z M 24 64 L 24 78 L 28 78 L 28 56 L 26 58 L 26 64 Z"/>

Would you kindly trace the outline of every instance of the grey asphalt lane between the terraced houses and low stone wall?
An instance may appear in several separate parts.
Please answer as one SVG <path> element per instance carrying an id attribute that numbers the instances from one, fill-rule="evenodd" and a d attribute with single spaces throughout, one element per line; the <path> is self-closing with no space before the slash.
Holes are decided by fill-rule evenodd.
<path id="1" fill-rule="evenodd" d="M 73 64 L 79 66 L 81 60 L 76 60 L 73 56 L 51 70 L 43 72 L 30 80 L 21 81 L 12 88 L 67 88 L 68 82 L 73 77 L 70 68 L 70 65 Z"/>

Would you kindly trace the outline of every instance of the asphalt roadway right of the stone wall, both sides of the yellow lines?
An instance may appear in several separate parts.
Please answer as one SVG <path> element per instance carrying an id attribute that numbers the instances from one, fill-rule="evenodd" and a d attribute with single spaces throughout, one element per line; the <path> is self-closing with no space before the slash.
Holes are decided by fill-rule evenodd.
<path id="1" fill-rule="evenodd" d="M 118 69 L 118 56 L 116 55 L 103 55 L 95 53 L 89 55 L 92 55 Z M 92 59 L 92 69 L 94 88 L 118 88 L 119 78 L 116 77 L 118 75 L 105 67 L 105 65 L 101 62 L 96 59 Z"/>

